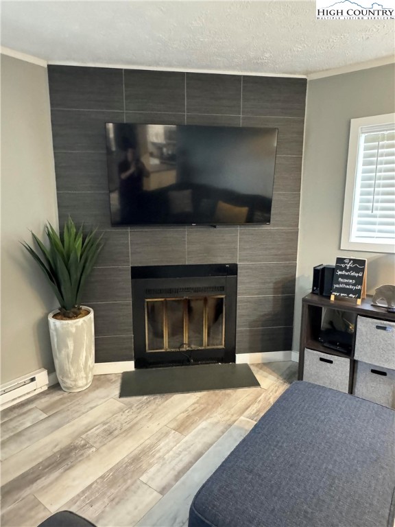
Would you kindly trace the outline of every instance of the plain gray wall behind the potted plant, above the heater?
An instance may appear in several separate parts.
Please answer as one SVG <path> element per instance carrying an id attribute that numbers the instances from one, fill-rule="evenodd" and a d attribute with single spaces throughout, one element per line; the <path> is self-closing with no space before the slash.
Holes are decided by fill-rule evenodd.
<path id="1" fill-rule="evenodd" d="M 1 383 L 54 371 L 55 297 L 19 243 L 58 222 L 47 69 L 1 55 Z"/>

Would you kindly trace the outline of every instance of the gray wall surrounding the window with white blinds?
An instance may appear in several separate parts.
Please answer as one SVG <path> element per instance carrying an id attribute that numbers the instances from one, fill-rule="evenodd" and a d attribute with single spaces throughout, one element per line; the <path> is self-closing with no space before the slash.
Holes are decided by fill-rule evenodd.
<path id="1" fill-rule="evenodd" d="M 395 111 L 394 65 L 311 80 L 307 89 L 293 349 L 313 266 L 337 256 L 368 259 L 368 293 L 395 283 L 395 256 L 340 250 L 350 119 Z"/>

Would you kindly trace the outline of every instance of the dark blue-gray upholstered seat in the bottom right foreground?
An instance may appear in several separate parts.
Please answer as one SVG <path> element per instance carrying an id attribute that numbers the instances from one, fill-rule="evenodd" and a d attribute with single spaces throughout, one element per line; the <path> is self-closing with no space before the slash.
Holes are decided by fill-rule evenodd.
<path id="1" fill-rule="evenodd" d="M 394 419 L 295 382 L 198 491 L 189 527 L 392 527 Z"/>

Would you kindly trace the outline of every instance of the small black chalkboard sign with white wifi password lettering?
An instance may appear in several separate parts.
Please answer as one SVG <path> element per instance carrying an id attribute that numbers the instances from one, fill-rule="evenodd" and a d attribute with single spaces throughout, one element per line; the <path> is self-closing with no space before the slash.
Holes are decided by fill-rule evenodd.
<path id="1" fill-rule="evenodd" d="M 335 296 L 357 298 L 357 303 L 361 303 L 366 296 L 366 260 L 336 258 L 331 300 Z"/>

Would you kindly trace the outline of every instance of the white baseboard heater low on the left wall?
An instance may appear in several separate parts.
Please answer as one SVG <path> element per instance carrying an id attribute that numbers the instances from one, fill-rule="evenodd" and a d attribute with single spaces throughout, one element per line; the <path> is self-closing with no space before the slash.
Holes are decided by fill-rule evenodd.
<path id="1" fill-rule="evenodd" d="M 48 388 L 48 372 L 45 368 L 28 373 L 0 386 L 0 410 L 32 397 Z"/>

